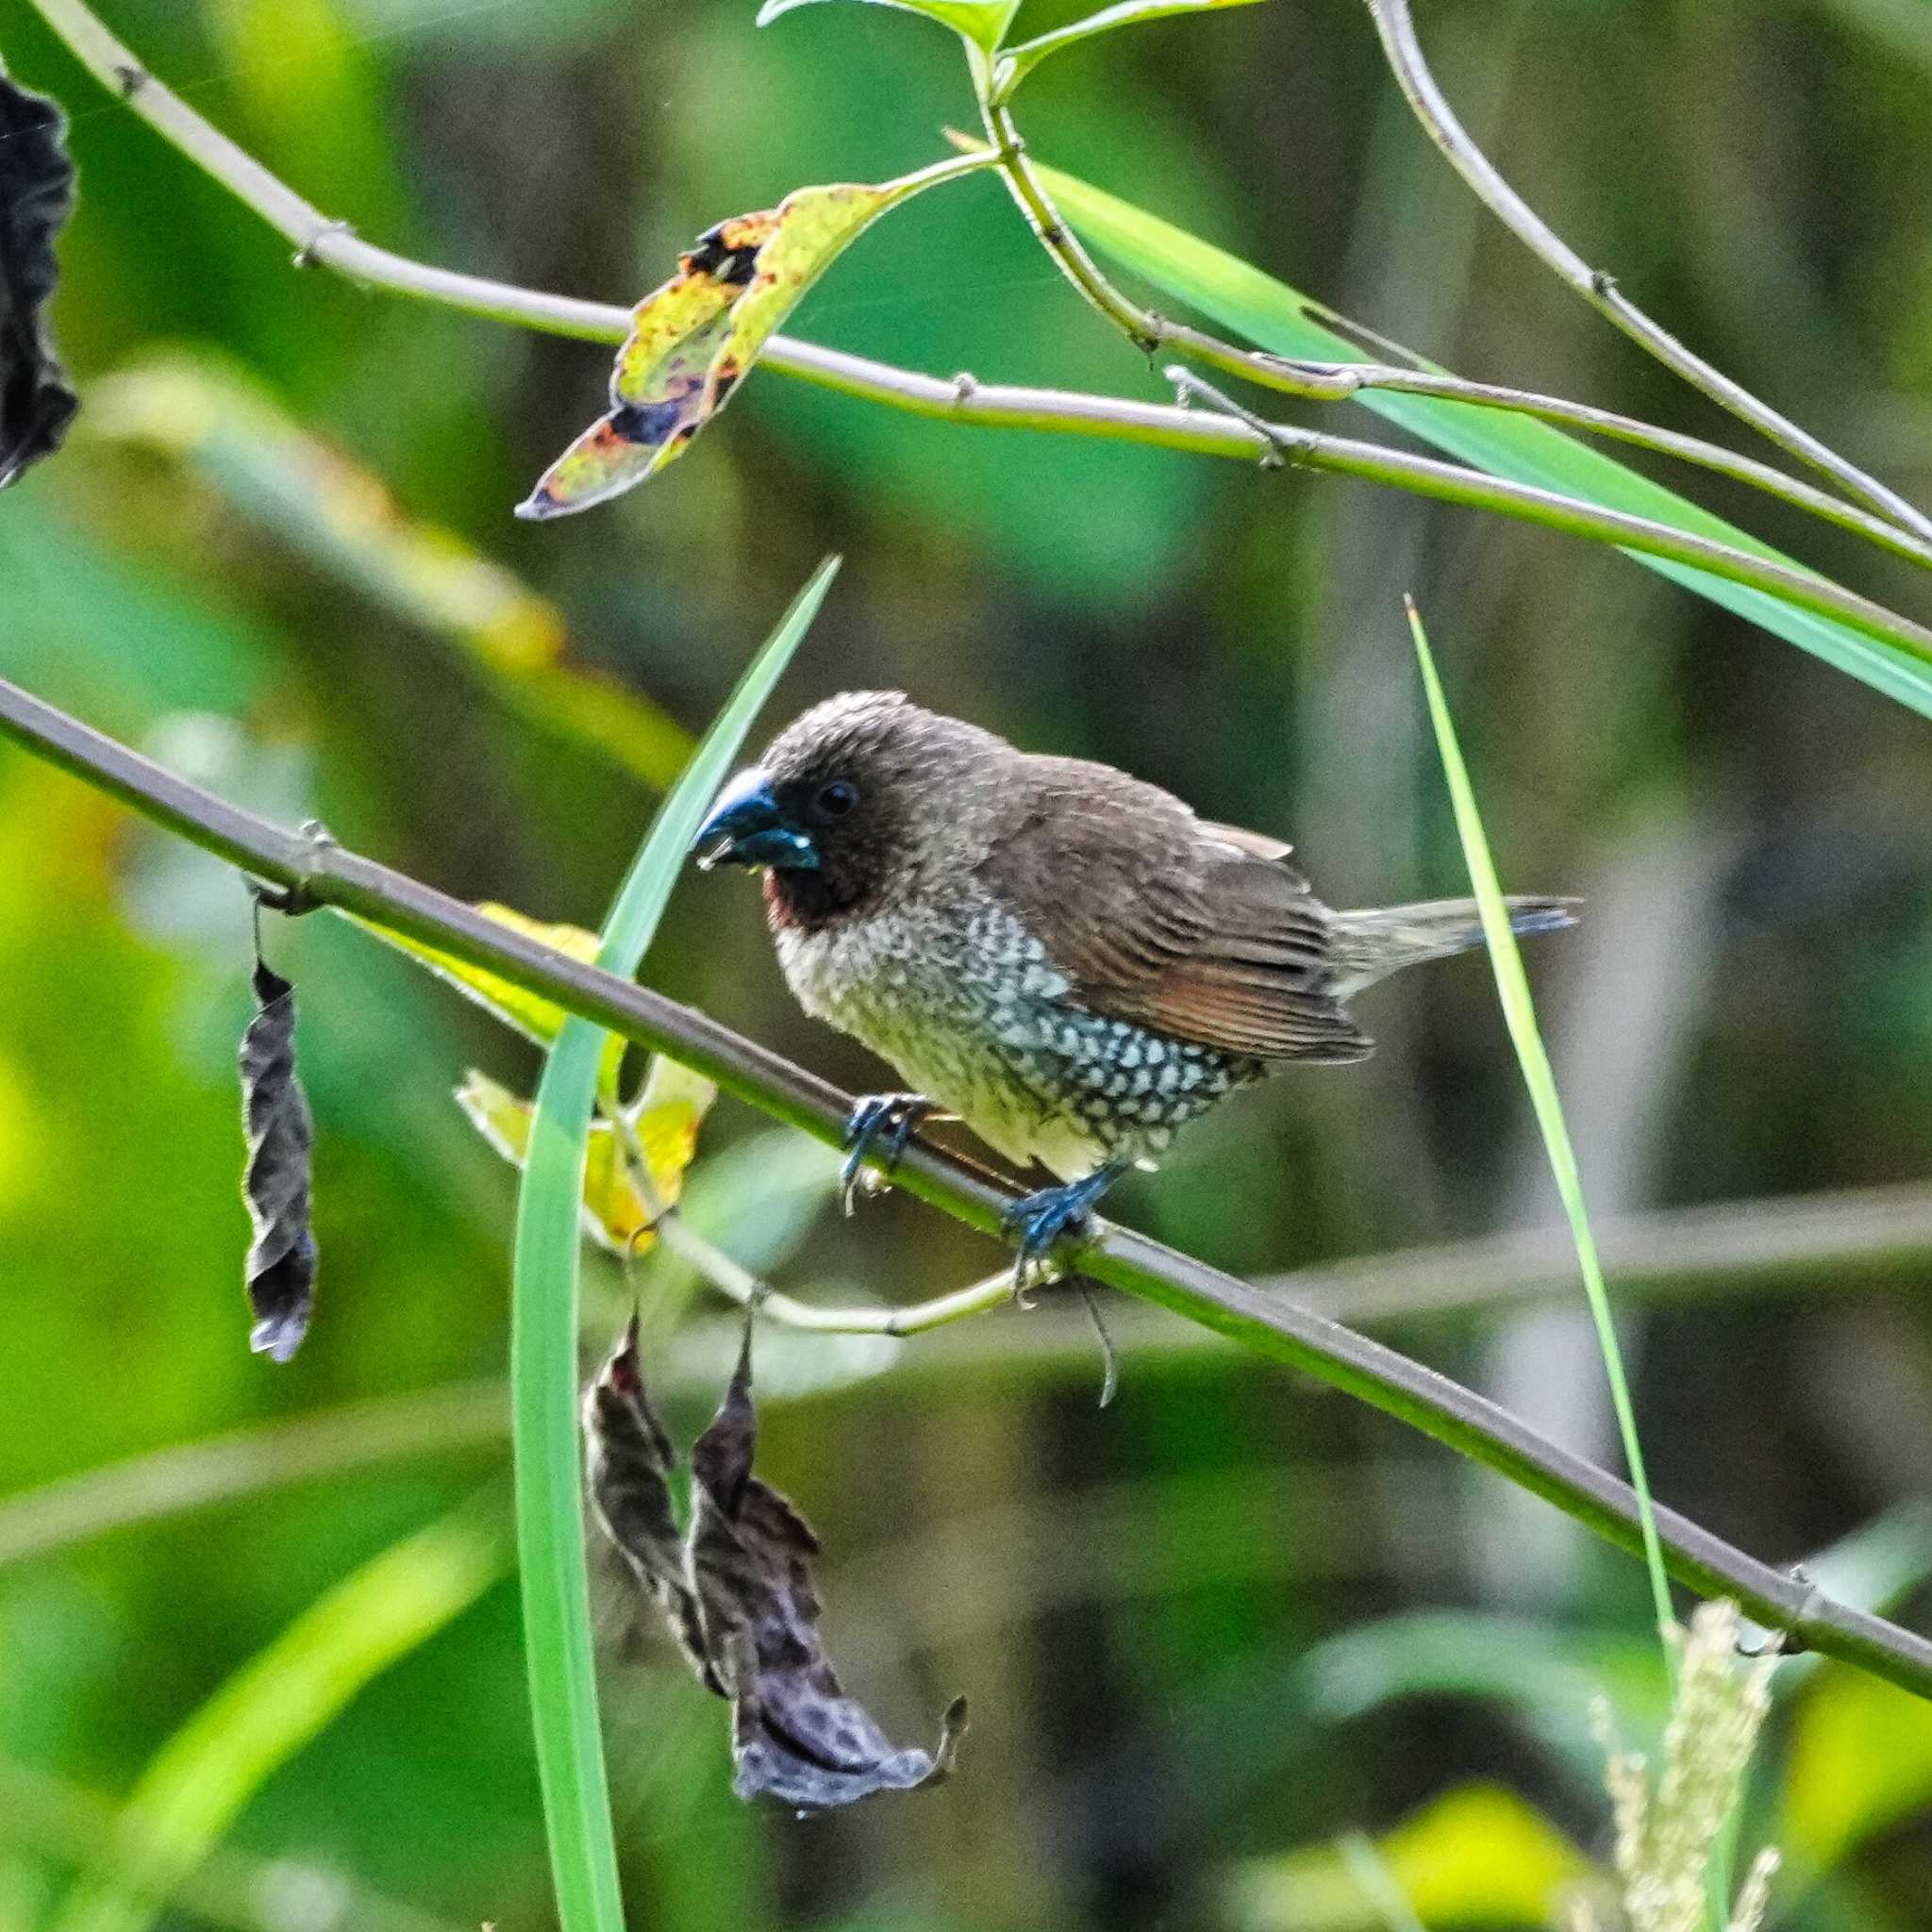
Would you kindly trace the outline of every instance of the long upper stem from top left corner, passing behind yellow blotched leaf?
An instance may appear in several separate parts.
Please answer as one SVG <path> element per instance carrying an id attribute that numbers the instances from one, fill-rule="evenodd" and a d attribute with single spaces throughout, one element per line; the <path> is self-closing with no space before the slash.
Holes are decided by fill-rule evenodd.
<path id="1" fill-rule="evenodd" d="M 106 85 L 118 87 L 126 95 L 128 104 L 149 126 L 166 135 L 189 160 L 205 168 L 240 201 L 270 222 L 286 240 L 294 242 L 298 261 L 332 269 L 369 288 L 386 288 L 419 301 L 460 309 L 466 315 L 541 328 L 551 334 L 574 336 L 587 342 L 622 342 L 630 332 L 630 311 L 612 303 L 580 301 L 570 296 L 516 288 L 508 282 L 491 282 L 483 276 L 458 274 L 448 269 L 410 261 L 404 255 L 394 255 L 388 249 L 363 242 L 348 226 L 330 220 L 292 187 L 278 182 L 251 155 L 236 147 L 234 141 L 205 122 L 187 102 L 139 68 L 133 54 L 95 19 L 81 0 L 33 0 L 33 6 L 68 46 L 73 48 L 91 73 Z M 1034 180 L 1037 187 L 1037 180 L 1030 170 L 1026 178 Z M 1080 259 L 1084 261 L 1086 257 L 1082 255 Z M 1099 278 L 1099 270 L 1092 269 L 1092 263 L 1088 263 L 1088 269 Z M 1121 299 L 1124 301 L 1124 298 Z M 1215 344 L 1211 336 L 1202 336 L 1198 330 L 1180 330 L 1177 334 L 1179 325 L 1163 323 L 1161 327 L 1165 328 L 1163 340 L 1192 348 L 1202 359 L 1215 361 L 1217 367 L 1233 367 L 1236 375 L 1252 373 L 1244 363 L 1244 352 L 1231 350 L 1227 344 Z M 811 342 L 782 336 L 775 336 L 765 346 L 759 361 L 765 367 L 781 369 L 786 375 L 817 383 L 823 388 L 862 396 L 867 402 L 887 404 L 914 415 L 943 417 L 954 423 L 1059 431 L 1065 435 L 1144 442 L 1188 450 L 1200 456 L 1225 456 L 1250 462 L 1267 446 L 1265 439 L 1242 423 L 1231 421 L 1227 415 L 1128 402 L 1113 396 L 980 384 L 968 377 L 941 381 L 869 361 L 864 355 L 848 355 L 840 350 L 827 350 Z M 1323 365 L 1320 363 L 1294 365 L 1277 357 L 1264 357 L 1264 361 L 1277 365 L 1283 373 L 1293 373 L 1294 369 L 1316 371 L 1308 379 L 1316 384 L 1314 390 L 1308 390 L 1312 394 L 1323 392 L 1325 383 L 1329 388 L 1337 384 L 1347 386 L 1341 375 L 1329 383 L 1321 375 Z M 1341 371 L 1349 367 L 1352 365 L 1337 365 Z M 1395 369 L 1389 373 L 1405 375 Z M 1480 388 L 1480 384 L 1470 384 L 1470 388 Z M 1499 398 L 1505 394 L 1511 392 L 1472 394 L 1461 400 L 1503 406 Z M 1555 398 L 1528 400 L 1553 402 Z M 1577 408 L 1580 410 L 1580 406 Z M 1636 431 L 1646 425 L 1636 425 L 1629 417 L 1617 421 L 1629 425 L 1627 440 L 1644 440 Z M 1607 423 L 1598 427 L 1604 427 L 1605 435 L 1621 433 L 1611 431 Z M 1932 657 L 1932 632 L 1897 612 L 1886 611 L 1870 599 L 1857 597 L 1795 566 L 1752 556 L 1747 551 L 1716 543 L 1708 537 L 1692 537 L 1648 518 L 1604 510 L 1580 498 L 1538 491 L 1524 483 L 1484 477 L 1455 464 L 1408 456 L 1406 452 L 1387 450 L 1372 442 L 1323 437 L 1314 431 L 1285 429 L 1281 433 L 1300 439 L 1300 452 L 1294 460 L 1304 468 L 1366 477 L 1395 489 L 1408 489 L 1470 508 L 1492 510 L 1501 516 L 1526 518 L 1528 522 L 1565 529 L 1571 535 L 1687 562 L 1708 570 L 1712 576 L 1729 578 L 1731 582 L 1768 591 L 1774 597 L 1799 603 L 1804 609 L 1820 611 L 1826 616 L 1843 618 L 1855 628 L 1911 655 Z M 1662 431 L 1658 435 L 1663 437 Z M 1660 440 L 1652 440 L 1650 446 L 1663 450 L 1663 454 L 1683 454 Z M 1723 452 L 1716 448 L 1710 454 L 1712 458 L 1723 458 Z M 1712 460 L 1710 468 L 1727 468 L 1733 475 L 1743 473 L 1729 462 Z M 1785 481 L 1789 483 L 1791 479 Z M 1801 502 L 1789 491 L 1779 491 L 1779 495 L 1791 502 Z M 1841 514 L 1833 522 L 1845 522 L 1845 516 Z M 1897 543 L 1891 547 L 1899 549 Z M 1822 597 L 1824 603 L 1814 603 L 1812 597 Z"/>

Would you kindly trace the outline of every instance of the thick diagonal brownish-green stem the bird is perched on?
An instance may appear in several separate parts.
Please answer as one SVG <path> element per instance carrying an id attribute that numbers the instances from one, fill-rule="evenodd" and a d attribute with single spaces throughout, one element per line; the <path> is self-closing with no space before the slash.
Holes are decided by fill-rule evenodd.
<path id="1" fill-rule="evenodd" d="M 290 833 L 178 779 L 128 746 L 0 680 L 0 732 L 95 790 L 182 835 L 253 877 L 290 887 L 502 974 L 715 1080 L 779 1121 L 837 1144 L 852 1099 L 815 1074 L 730 1032 L 692 1007 L 599 972 L 471 906 L 313 831 Z M 985 1169 L 914 1142 L 898 1182 L 981 1233 L 997 1235 L 1018 1190 Z M 1080 1271 L 1169 1308 L 1188 1321 L 1345 1389 L 1459 1455 L 1493 1468 L 1623 1549 L 1638 1549 L 1627 1484 L 1571 1455 L 1528 1424 L 1395 1349 L 1296 1308 L 1128 1229 L 1095 1223 Z M 1669 1571 L 1706 1594 L 1729 1594 L 1760 1623 L 1932 1698 L 1932 1642 L 1884 1617 L 1824 1596 L 1760 1563 L 1700 1524 L 1658 1511 Z"/>

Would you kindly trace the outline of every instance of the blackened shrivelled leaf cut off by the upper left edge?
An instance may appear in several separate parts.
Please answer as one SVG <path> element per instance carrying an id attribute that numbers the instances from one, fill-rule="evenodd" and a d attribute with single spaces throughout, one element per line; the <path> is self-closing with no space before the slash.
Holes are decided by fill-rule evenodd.
<path id="1" fill-rule="evenodd" d="M 66 116 L 0 71 L 0 489 L 60 448 L 79 408 L 43 315 L 71 207 Z"/>

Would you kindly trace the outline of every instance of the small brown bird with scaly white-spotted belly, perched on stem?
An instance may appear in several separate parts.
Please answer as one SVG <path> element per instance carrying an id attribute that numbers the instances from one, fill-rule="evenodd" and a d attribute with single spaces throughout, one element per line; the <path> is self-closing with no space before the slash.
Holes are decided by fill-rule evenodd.
<path id="1" fill-rule="evenodd" d="M 1022 1283 L 1113 1180 L 1236 1088 L 1364 1059 L 1347 1010 L 1364 987 L 1482 943 L 1468 898 L 1335 912 L 1289 850 L 900 692 L 813 705 L 694 842 L 705 867 L 765 869 L 800 1005 L 912 1088 L 856 1107 L 848 1206 L 875 1146 L 891 1173 L 937 1111 L 1061 1177 L 1009 1215 Z M 1569 900 L 1509 906 L 1519 933 L 1571 923 Z"/>

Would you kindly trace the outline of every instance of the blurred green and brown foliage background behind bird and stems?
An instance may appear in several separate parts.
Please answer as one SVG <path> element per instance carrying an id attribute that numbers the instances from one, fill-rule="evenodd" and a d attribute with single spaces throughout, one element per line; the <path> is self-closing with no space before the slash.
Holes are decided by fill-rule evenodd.
<path id="1" fill-rule="evenodd" d="M 752 12 L 108 8 L 367 238 L 601 299 L 794 184 L 918 166 L 972 114 L 927 23 L 827 6 L 753 31 Z M 1030 6 L 1024 25 L 1072 12 Z M 1559 232 L 1932 498 L 1932 6 L 1422 14 L 1451 97 Z M 66 454 L 0 504 L 6 676 L 454 893 L 595 925 L 686 734 L 837 549 L 773 724 L 902 686 L 1289 835 L 1327 896 L 1374 902 L 1461 889 L 1401 626 L 1412 589 L 1505 879 L 1590 902 L 1532 970 L 1658 1492 L 1924 1613 L 1924 721 L 1551 533 L 927 423 L 777 373 L 649 489 L 516 524 L 603 406 L 603 348 L 292 272 L 23 0 L 0 0 L 0 54 L 73 114 L 83 201 L 56 319 L 87 398 Z M 1022 118 L 1037 155 L 1466 375 L 1729 433 L 1468 201 L 1349 0 L 1117 35 L 1043 70 Z M 937 375 L 1161 394 L 983 178 L 869 234 L 794 332 Z M 1851 539 L 1687 487 L 1882 597 L 1922 597 Z M 301 989 L 321 1122 L 321 1306 L 286 1368 L 243 1347 L 240 889 L 0 750 L 0 1924 L 541 1928 L 500 1553 L 390 1667 L 323 1687 L 296 1756 L 251 1772 L 224 1743 L 236 1673 L 305 1613 L 327 1623 L 328 1592 L 398 1540 L 466 1511 L 483 1526 L 466 1548 L 497 1551 L 512 1175 L 450 1090 L 471 1065 L 533 1078 L 524 1045 L 338 922 L 276 923 L 270 949 Z M 881 1084 L 790 1007 L 744 881 L 682 887 L 647 978 Z M 1225 1109 L 1117 1211 L 1244 1273 L 1312 1271 L 1296 1293 L 1611 1459 L 1482 962 L 1406 976 L 1364 1016 L 1370 1065 Z M 995 1264 L 902 1198 L 842 1221 L 829 1169 L 721 1103 L 692 1217 L 840 1300 Z M 1787 1198 L 1803 1206 L 1770 1206 Z M 688 1306 L 661 1374 L 690 1432 L 728 1323 L 663 1258 L 639 1285 Z M 599 1262 L 587 1347 L 624 1294 Z M 1337 1395 L 1109 1314 L 1126 1374 L 1107 1412 L 1065 1306 L 898 1352 L 769 1337 L 765 1466 L 825 1536 L 835 1656 L 895 1735 L 925 1735 L 954 1690 L 976 1727 L 939 1791 L 817 1822 L 738 1806 L 719 1708 L 636 1638 L 607 1578 L 634 1924 L 1352 1932 L 1401 1924 L 1374 1897 L 1393 1872 L 1428 1926 L 1501 1932 L 1549 1924 L 1602 1861 L 1590 1700 L 1634 1739 L 1660 1712 L 1640 1569 Z M 1932 1712 L 1839 1667 L 1779 1685 L 1745 1826 L 1787 1853 L 1774 1924 L 1932 1922 Z M 184 1727 L 203 1756 L 184 1760 Z M 187 1841 L 216 1851 L 135 1909 L 112 1822 L 170 1762 L 191 1768 Z"/>

